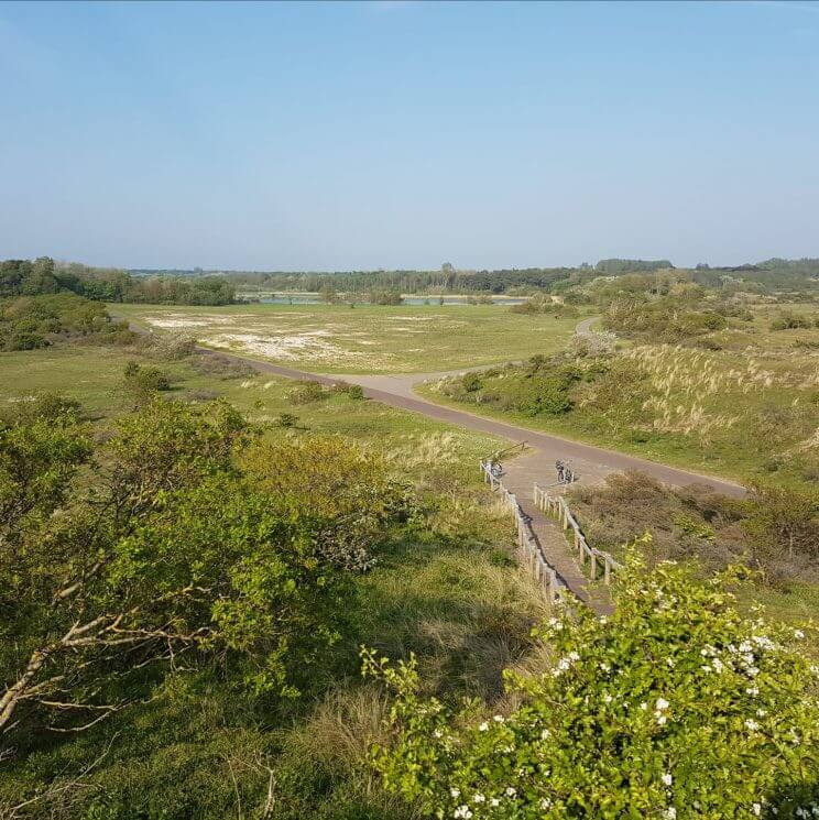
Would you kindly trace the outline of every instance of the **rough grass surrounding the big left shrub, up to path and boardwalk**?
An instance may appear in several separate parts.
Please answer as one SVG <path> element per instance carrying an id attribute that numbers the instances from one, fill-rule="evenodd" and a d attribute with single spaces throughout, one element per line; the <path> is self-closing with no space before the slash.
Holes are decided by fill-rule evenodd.
<path id="1" fill-rule="evenodd" d="M 350 576 L 339 637 L 310 662 L 298 698 L 260 697 L 241 677 L 200 667 L 151 678 L 139 702 L 84 732 L 55 734 L 35 721 L 34 732 L 14 735 L 2 763 L 0 816 L 411 817 L 365 764 L 389 704 L 379 687 L 361 679 L 359 646 L 394 657 L 415 653 L 425 690 L 446 698 L 496 698 L 501 670 L 529 650 L 529 630 L 545 610 L 515 567 L 507 514 L 474 469 L 499 442 L 354 392 L 304 391 L 186 350 L 142 340 L 128 348 L 72 343 L 6 353 L 0 415 L 56 392 L 80 403 L 83 418 L 105 441 L 118 419 L 139 413 L 145 401 L 124 375 L 133 362 L 131 372 L 159 369 L 167 376 L 165 401 L 205 408 L 225 398 L 273 446 L 315 447 L 309 442 L 334 436 L 371 453 L 389 480 L 408 483 L 422 517 L 410 528 L 374 533 L 374 565 Z M 337 458 L 324 459 L 309 489 L 280 452 L 260 469 L 291 477 L 299 515 L 315 514 L 321 488 L 351 481 L 348 471 L 336 474 L 345 469 Z"/>

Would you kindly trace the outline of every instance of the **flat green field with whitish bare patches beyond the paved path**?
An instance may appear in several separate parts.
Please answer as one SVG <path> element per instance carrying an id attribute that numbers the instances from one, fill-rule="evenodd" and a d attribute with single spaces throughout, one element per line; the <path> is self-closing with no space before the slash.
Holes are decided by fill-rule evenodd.
<path id="1" fill-rule="evenodd" d="M 485 305 L 110 308 L 146 328 L 321 373 L 440 372 L 549 353 L 585 316 L 523 316 Z"/>

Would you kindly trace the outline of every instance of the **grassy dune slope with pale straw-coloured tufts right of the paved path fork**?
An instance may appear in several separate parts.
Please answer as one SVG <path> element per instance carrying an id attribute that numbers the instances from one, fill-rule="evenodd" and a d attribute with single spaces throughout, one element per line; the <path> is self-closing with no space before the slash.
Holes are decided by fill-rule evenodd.
<path id="1" fill-rule="evenodd" d="M 772 349 L 767 336 L 761 330 L 757 345 L 741 350 L 624 346 L 604 370 L 572 389 L 574 406 L 559 415 L 532 416 L 502 401 L 520 382 L 520 369 L 488 376 L 471 392 L 457 382 L 454 390 L 430 382 L 418 392 L 522 427 L 743 483 L 815 481 L 819 350 L 793 343 Z"/>

